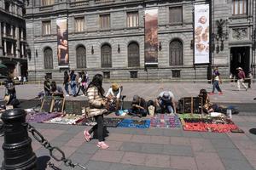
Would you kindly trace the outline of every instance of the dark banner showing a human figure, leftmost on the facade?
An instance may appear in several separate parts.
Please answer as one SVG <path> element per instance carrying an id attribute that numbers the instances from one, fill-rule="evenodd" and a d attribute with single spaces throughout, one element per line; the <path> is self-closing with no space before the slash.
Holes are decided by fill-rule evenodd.
<path id="1" fill-rule="evenodd" d="M 57 25 L 57 56 L 59 65 L 68 65 L 67 18 L 56 20 Z"/>

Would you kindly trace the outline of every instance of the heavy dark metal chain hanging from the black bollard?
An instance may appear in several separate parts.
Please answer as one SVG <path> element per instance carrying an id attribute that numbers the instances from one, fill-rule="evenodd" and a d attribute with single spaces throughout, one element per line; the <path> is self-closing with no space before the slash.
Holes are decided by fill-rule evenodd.
<path id="1" fill-rule="evenodd" d="M 54 158 L 55 161 L 63 161 L 65 166 L 67 166 L 67 167 L 73 167 L 73 168 L 80 167 L 84 170 L 87 170 L 87 168 L 84 167 L 83 165 L 81 165 L 79 163 L 73 163 L 73 161 L 71 161 L 70 159 L 67 159 L 63 150 L 61 150 L 60 148 L 58 148 L 56 146 L 51 146 L 51 144 L 49 144 L 49 141 L 47 139 L 44 139 L 44 136 L 41 133 L 39 133 L 35 127 L 32 127 L 32 125 L 30 125 L 27 122 L 25 122 L 23 124 L 23 126 L 25 126 L 27 128 L 28 132 L 32 133 L 32 136 L 34 137 L 34 139 L 38 140 L 38 142 L 40 144 L 42 144 L 45 149 L 49 150 L 49 156 Z M 59 157 L 56 156 L 57 155 L 56 153 L 60 154 L 60 156 Z M 49 162 L 48 164 L 49 164 L 49 167 L 51 166 L 56 169 L 56 167 L 54 166 L 53 163 Z M 59 168 L 57 168 L 57 169 L 59 169 Z"/>

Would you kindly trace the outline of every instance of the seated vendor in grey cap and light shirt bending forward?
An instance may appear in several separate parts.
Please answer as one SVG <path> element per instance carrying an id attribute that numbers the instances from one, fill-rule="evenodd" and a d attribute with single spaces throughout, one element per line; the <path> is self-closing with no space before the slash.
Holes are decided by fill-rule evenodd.
<path id="1" fill-rule="evenodd" d="M 162 114 L 164 114 L 166 111 L 168 113 L 176 113 L 174 95 L 171 91 L 161 92 L 158 95 L 158 98 L 155 100 L 155 103 L 161 108 Z"/>

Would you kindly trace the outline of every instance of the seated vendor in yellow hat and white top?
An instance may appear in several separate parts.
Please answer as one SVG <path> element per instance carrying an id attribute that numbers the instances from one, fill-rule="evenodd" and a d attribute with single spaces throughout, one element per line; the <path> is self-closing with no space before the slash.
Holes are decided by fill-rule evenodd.
<path id="1" fill-rule="evenodd" d="M 121 97 L 121 88 L 116 82 L 113 82 L 113 84 L 111 85 L 111 88 L 108 89 L 106 98 L 108 98 L 109 101 L 113 103 L 114 111 L 119 110 L 120 97 Z"/>

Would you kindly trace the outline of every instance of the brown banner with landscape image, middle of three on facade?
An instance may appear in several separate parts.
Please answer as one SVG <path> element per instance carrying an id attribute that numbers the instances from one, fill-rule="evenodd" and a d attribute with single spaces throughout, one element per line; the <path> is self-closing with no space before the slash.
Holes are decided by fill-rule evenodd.
<path id="1" fill-rule="evenodd" d="M 158 64 L 158 9 L 145 10 L 145 65 Z"/>

